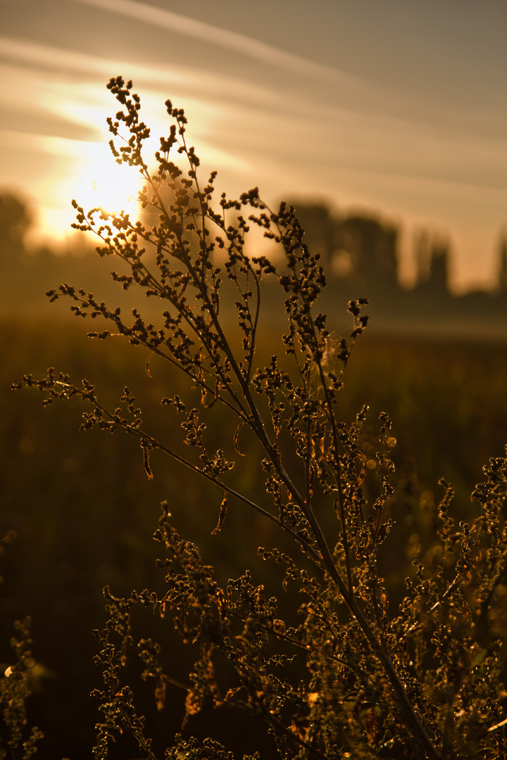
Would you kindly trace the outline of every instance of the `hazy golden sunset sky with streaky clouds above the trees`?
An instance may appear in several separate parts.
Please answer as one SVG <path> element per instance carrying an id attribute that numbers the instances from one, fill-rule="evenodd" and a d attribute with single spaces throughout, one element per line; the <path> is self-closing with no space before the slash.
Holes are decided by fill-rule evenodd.
<path id="1" fill-rule="evenodd" d="M 493 287 L 507 232 L 505 0 L 0 0 L 0 191 L 32 240 L 68 239 L 71 199 L 126 206 L 109 78 L 132 79 L 147 146 L 185 109 L 203 171 L 237 197 L 322 201 L 449 239 L 457 292 Z"/>

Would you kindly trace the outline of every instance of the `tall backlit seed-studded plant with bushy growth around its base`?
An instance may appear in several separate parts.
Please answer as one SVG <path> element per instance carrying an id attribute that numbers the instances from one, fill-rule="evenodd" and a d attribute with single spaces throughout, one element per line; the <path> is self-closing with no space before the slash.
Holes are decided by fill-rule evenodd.
<path id="1" fill-rule="evenodd" d="M 103 688 L 96 693 L 95 758 L 106 758 L 121 734 L 133 736 L 143 756 L 162 756 L 126 675 L 136 657 L 142 679 L 153 685 L 154 709 L 166 709 L 166 689 L 173 684 L 184 690 L 188 720 L 204 705 L 249 711 L 262 718 L 281 758 L 504 758 L 507 461 L 492 459 L 484 468 L 485 480 L 472 494 L 480 515 L 471 524 L 455 525 L 452 487 L 442 481 L 438 511 L 427 515 L 426 542 L 413 547 L 415 572 L 407 579 L 407 595 L 390 610 L 378 560 L 391 527 L 396 443 L 391 420 L 381 415 L 372 440 L 365 427 L 367 407 L 349 426 L 339 419 L 344 369 L 366 328 L 367 300 L 349 302 L 347 339 L 331 334 L 326 315 L 316 310 L 325 274 L 318 255 L 306 248 L 293 208 L 281 204 L 272 211 L 257 188 L 238 201 L 223 194 L 214 207 L 216 173 L 200 184 L 199 159 L 186 143 L 185 114 L 170 100 L 166 108 L 173 125 L 169 137 L 160 140 L 152 172 L 142 154 L 149 129 L 140 121 L 132 82 L 116 78 L 108 87 L 122 106 L 116 120 L 108 120 L 116 139 L 110 141 L 112 153 L 141 173 L 141 205 L 154 210 L 158 220 L 147 228 L 123 212 L 86 213 L 73 201 L 74 226 L 100 237 L 100 256 L 122 262 L 123 271 L 112 277 L 123 289 L 138 288 L 160 303 L 160 322 L 147 321 L 138 309 L 127 319 L 121 309 L 109 309 L 68 284 L 48 295 L 68 296 L 76 315 L 102 317 L 111 325 L 91 337 L 121 335 L 186 375 L 194 405 L 178 395 L 163 397 L 161 404 L 181 420 L 190 453 L 184 456 L 151 434 L 129 388 L 119 406 L 108 410 L 90 382 L 74 384 L 54 369 L 43 379 L 25 375 L 16 387 L 39 388 L 45 404 L 84 401 L 81 429 L 133 435 L 149 478 L 151 452 L 159 450 L 214 483 L 221 494 L 214 532 L 227 530 L 228 505 L 237 501 L 276 524 L 292 538 L 296 554 L 277 548 L 258 553 L 293 591 L 299 622 L 284 619 L 277 600 L 249 571 L 220 587 L 197 546 L 177 534 L 164 502 L 155 539 L 163 554 L 159 566 L 166 593 L 133 591 L 123 598 L 104 591 L 108 619 L 97 632 Z M 170 160 L 174 152 L 186 160 L 185 172 Z M 281 264 L 247 255 L 252 225 L 283 252 Z M 282 353 L 258 369 L 266 280 L 284 293 L 287 328 Z M 232 293 L 236 318 L 224 308 Z M 235 420 L 227 451 L 207 443 L 207 421 L 213 421 L 217 405 Z M 261 452 L 248 466 L 264 473 L 262 502 L 231 485 L 233 458 L 242 456 L 247 436 Z M 375 492 L 372 499 L 365 480 Z M 333 511 L 336 537 L 322 527 L 323 516 Z M 296 591 L 303 594 L 300 605 Z M 198 645 L 188 682 L 166 672 L 163 637 L 154 641 L 135 634 L 132 611 L 138 607 L 151 608 L 182 641 Z M 296 660 L 306 665 L 304 678 Z M 177 736 L 168 744 L 166 758 L 232 757 L 211 738 L 199 743 Z"/>

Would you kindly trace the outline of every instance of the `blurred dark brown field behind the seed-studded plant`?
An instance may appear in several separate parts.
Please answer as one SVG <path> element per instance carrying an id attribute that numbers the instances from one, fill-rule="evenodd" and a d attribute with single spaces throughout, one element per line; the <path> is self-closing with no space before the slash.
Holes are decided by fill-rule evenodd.
<path id="1" fill-rule="evenodd" d="M 2 535 L 17 532 L 2 556 L 0 661 L 10 661 L 14 619 L 32 616 L 33 651 L 41 667 L 30 708 L 47 737 L 41 758 L 89 756 L 96 711 L 88 694 L 99 686 L 91 631 L 103 624 L 102 588 L 109 584 L 114 593 L 128 593 L 160 584 L 152 534 L 163 499 L 170 502 L 180 534 L 198 543 L 219 578 L 251 567 L 258 581 L 271 582 L 255 558 L 259 544 L 274 540 L 271 528 L 242 505 L 233 505 L 223 531 L 211 536 L 220 505 L 213 486 L 156 454 L 154 480 L 148 480 L 141 449 L 128 435 L 78 432 L 82 410 L 77 402 L 43 408 L 36 391 L 11 391 L 11 382 L 24 373 L 43 375 L 55 366 L 75 380 L 93 382 L 106 405 L 114 407 L 127 383 L 144 407 L 146 426 L 166 441 L 179 440 L 178 423 L 160 407 L 160 397 L 184 395 L 181 380 L 156 361 L 148 376 L 141 349 L 114 340 L 91 341 L 84 337 L 86 328 L 70 317 L 65 322 L 4 319 L 0 326 L 0 527 Z M 486 341 L 452 344 L 438 338 L 375 336 L 372 331 L 353 350 L 344 378 L 343 419 L 353 420 L 369 404 L 374 436 L 379 412 L 388 411 L 398 442 L 391 505 L 398 527 L 385 556 L 385 576 L 398 594 L 410 572 L 410 556 L 402 547 L 419 539 L 421 511 L 439 498 L 439 477 L 455 486 L 456 514 L 470 516 L 476 508 L 470 493 L 483 464 L 505 451 L 505 349 L 505 344 Z M 227 450 L 231 444 L 230 439 L 222 442 L 224 432 L 229 435 L 227 425 L 215 420 L 212 434 Z M 250 445 L 248 439 L 239 442 L 247 454 Z M 261 494 L 258 474 L 243 460 L 234 473 L 243 489 Z M 192 658 L 182 656 L 176 638 L 175 646 L 173 670 L 184 679 Z M 179 692 L 171 698 L 171 723 L 164 730 L 177 730 L 184 714 Z M 198 725 L 194 730 L 198 733 Z"/>

